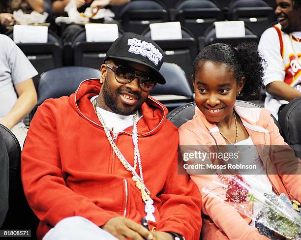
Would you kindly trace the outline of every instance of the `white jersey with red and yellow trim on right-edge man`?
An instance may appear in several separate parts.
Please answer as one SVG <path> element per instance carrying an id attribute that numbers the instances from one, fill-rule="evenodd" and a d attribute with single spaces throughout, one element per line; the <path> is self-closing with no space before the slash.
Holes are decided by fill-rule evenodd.
<path id="1" fill-rule="evenodd" d="M 287 34 L 277 24 L 266 30 L 259 41 L 258 50 L 263 54 L 268 66 L 265 68 L 264 84 L 282 81 L 301 91 L 301 66 L 296 57 L 301 57 L 301 32 Z M 265 108 L 278 119 L 278 110 L 285 100 L 275 99 L 266 92 Z"/>

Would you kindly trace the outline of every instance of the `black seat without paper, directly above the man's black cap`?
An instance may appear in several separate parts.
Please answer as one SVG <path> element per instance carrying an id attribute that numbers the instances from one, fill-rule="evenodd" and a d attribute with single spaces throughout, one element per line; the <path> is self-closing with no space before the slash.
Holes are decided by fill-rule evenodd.
<path id="1" fill-rule="evenodd" d="M 141 34 L 151 23 L 168 22 L 166 7 L 155 0 L 133 0 L 120 10 L 119 19 L 125 31 Z"/>

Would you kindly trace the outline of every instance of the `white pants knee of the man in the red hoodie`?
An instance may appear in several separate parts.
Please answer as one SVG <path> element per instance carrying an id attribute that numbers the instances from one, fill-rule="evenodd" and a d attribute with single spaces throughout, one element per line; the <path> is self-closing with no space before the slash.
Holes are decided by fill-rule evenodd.
<path id="1" fill-rule="evenodd" d="M 67 217 L 50 229 L 43 240 L 118 240 L 107 231 L 80 217 Z"/>

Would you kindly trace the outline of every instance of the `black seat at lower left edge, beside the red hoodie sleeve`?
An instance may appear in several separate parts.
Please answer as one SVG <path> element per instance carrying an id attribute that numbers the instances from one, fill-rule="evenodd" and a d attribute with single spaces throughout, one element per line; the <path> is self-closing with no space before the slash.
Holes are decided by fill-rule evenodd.
<path id="1" fill-rule="evenodd" d="M 9 206 L 1 229 L 31 229 L 35 239 L 38 219 L 30 209 L 21 182 L 21 148 L 15 135 L 0 124 L 0 134 L 6 145 L 9 158 Z"/>

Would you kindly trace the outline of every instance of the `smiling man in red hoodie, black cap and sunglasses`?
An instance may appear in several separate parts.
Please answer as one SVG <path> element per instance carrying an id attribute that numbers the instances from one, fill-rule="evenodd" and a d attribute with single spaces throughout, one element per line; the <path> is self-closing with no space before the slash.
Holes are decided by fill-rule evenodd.
<path id="1" fill-rule="evenodd" d="M 107 52 L 101 79 L 38 108 L 22 152 L 38 239 L 199 239 L 199 190 L 178 175 L 177 129 L 149 96 L 165 84 L 162 63 L 156 43 L 127 32 Z"/>

